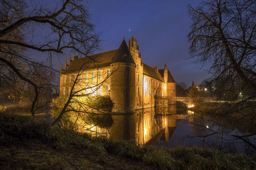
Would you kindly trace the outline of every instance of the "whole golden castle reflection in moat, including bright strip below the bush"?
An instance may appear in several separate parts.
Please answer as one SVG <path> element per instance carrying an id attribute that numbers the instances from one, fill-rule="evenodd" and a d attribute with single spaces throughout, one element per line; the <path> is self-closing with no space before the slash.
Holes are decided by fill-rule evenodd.
<path id="1" fill-rule="evenodd" d="M 176 119 L 166 114 L 170 110 L 175 111 L 176 105 L 170 107 L 172 108 L 153 107 L 137 110 L 130 115 L 113 115 L 114 122 L 109 129 L 95 125 L 77 125 L 75 130 L 118 141 L 134 141 L 140 145 L 158 143 L 159 139 L 164 139 L 167 145 L 176 127 Z"/>

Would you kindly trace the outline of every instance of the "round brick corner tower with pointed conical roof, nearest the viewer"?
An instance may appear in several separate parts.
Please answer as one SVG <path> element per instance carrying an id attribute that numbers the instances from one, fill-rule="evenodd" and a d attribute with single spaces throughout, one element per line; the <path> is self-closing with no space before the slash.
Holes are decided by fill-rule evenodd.
<path id="1" fill-rule="evenodd" d="M 110 97 L 114 103 L 114 111 L 134 110 L 136 64 L 125 40 L 119 46 L 110 66 Z"/>

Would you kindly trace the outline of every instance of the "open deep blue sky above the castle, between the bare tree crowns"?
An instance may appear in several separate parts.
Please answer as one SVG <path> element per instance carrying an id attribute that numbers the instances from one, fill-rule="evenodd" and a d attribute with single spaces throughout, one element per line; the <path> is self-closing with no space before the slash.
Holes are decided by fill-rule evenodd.
<path id="1" fill-rule="evenodd" d="M 200 83 L 210 76 L 193 60 L 186 60 L 191 24 L 187 5 L 199 3 L 198 0 L 89 0 L 88 11 L 103 40 L 100 52 L 118 48 L 124 36 L 126 41 L 134 36 L 143 62 L 159 68 L 166 63 L 177 82 L 190 85 L 192 80 Z"/>

